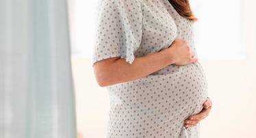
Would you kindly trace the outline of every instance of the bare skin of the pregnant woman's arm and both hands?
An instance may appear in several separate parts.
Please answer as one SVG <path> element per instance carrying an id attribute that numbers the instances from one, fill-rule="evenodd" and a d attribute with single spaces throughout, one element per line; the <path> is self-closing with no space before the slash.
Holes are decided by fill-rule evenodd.
<path id="1" fill-rule="evenodd" d="M 159 52 L 135 58 L 132 64 L 125 61 L 125 58 L 114 57 L 97 61 L 92 66 L 97 83 L 101 87 L 110 86 L 122 82 L 137 80 L 159 71 L 168 65 L 188 65 L 196 63 L 190 46 L 183 39 L 175 39 L 170 46 Z M 194 116 L 190 116 L 184 122 L 185 128 L 195 126 L 198 122 L 208 116 L 212 108 L 212 101 L 207 99 L 203 104 L 204 109 Z M 188 125 L 188 126 L 186 126 Z"/>

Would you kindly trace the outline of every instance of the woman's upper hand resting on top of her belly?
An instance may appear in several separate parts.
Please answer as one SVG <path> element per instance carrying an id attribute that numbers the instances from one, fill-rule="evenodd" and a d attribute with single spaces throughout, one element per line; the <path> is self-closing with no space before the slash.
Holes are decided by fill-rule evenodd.
<path id="1" fill-rule="evenodd" d="M 170 55 L 173 65 L 188 65 L 196 63 L 198 59 L 194 57 L 195 52 L 191 51 L 190 46 L 184 39 L 175 39 L 169 48 L 164 49 Z"/>

